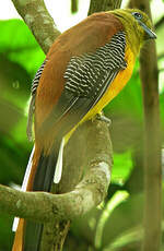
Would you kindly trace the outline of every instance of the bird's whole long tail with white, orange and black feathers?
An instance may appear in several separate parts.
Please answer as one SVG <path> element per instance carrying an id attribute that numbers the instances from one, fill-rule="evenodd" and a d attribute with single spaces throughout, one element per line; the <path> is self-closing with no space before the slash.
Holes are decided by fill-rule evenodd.
<path id="1" fill-rule="evenodd" d="M 54 182 L 54 176 L 56 183 L 60 181 L 63 145 L 63 139 L 56 141 L 55 146 L 47 156 L 35 148 L 34 156 L 27 165 L 22 186 L 23 190 L 26 188 L 26 191 L 49 192 Z M 43 224 L 20 219 L 12 251 L 38 251 L 42 232 Z"/>

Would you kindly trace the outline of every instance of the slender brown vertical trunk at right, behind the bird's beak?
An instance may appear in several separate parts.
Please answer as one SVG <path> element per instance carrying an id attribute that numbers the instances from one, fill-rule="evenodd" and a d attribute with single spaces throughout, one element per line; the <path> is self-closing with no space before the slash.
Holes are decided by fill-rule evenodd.
<path id="1" fill-rule="evenodd" d="M 151 16 L 149 0 L 132 0 Z M 162 224 L 161 124 L 157 60 L 154 41 L 140 53 L 140 75 L 144 106 L 144 239 L 143 251 L 159 251 Z"/>

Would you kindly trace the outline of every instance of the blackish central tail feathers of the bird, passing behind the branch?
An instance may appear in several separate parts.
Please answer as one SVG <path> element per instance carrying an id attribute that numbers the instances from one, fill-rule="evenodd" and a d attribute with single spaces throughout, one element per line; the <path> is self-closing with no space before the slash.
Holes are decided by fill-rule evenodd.
<path id="1" fill-rule="evenodd" d="M 48 156 L 42 152 L 33 182 L 33 191 L 50 191 L 54 181 L 55 168 L 60 148 L 60 141 L 55 142 L 55 147 L 51 148 Z M 39 250 L 40 238 L 43 232 L 43 224 L 26 222 L 24 232 L 24 251 Z"/>

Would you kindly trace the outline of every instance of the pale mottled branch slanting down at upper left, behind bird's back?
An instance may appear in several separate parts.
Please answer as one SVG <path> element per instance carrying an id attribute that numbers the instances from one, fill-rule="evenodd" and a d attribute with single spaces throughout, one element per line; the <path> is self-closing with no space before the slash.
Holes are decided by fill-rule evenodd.
<path id="1" fill-rule="evenodd" d="M 12 2 L 44 52 L 47 53 L 60 32 L 49 15 L 44 0 L 12 0 Z"/>

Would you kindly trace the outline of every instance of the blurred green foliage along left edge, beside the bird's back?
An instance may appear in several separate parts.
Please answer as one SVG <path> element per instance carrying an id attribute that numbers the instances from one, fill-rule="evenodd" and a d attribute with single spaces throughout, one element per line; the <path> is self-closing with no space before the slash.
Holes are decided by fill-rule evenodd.
<path id="1" fill-rule="evenodd" d="M 45 56 L 27 26 L 0 21 L 0 183 L 21 184 L 32 148 L 26 139 L 31 82 Z M 0 251 L 11 250 L 13 217 L 0 215 Z"/>

